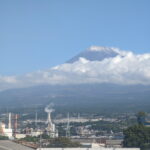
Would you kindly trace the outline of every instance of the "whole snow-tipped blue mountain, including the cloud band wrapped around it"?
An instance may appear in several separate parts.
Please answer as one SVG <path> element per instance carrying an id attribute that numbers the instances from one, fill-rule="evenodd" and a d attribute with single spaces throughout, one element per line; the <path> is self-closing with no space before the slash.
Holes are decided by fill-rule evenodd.
<path id="1" fill-rule="evenodd" d="M 2 106 L 53 101 L 67 108 L 148 109 L 150 54 L 91 46 L 47 70 L 0 76 L 0 90 Z"/>

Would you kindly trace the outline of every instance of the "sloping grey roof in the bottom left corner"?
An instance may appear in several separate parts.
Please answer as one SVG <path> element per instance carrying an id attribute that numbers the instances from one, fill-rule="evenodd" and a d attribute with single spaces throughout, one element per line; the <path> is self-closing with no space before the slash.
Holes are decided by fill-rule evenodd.
<path id="1" fill-rule="evenodd" d="M 32 148 L 8 140 L 0 140 L 0 150 L 33 150 Z"/>

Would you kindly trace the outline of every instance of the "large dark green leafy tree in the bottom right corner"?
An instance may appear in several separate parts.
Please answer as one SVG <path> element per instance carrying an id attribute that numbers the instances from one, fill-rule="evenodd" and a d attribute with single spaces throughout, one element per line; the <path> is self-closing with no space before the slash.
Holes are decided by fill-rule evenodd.
<path id="1" fill-rule="evenodd" d="M 150 128 L 144 125 L 134 125 L 124 130 L 124 147 L 150 148 Z"/>

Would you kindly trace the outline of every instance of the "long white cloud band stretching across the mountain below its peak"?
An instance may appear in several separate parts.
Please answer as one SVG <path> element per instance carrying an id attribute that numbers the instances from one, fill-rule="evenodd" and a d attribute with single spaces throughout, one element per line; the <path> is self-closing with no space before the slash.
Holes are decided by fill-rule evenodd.
<path id="1" fill-rule="evenodd" d="M 91 47 L 90 50 L 105 50 Z M 110 49 L 110 48 L 109 48 Z M 102 61 L 79 58 L 74 63 L 58 65 L 49 70 L 28 73 L 24 76 L 0 76 L 0 90 L 40 84 L 116 83 L 150 84 L 150 54 L 136 55 L 117 51 L 118 55 Z"/>

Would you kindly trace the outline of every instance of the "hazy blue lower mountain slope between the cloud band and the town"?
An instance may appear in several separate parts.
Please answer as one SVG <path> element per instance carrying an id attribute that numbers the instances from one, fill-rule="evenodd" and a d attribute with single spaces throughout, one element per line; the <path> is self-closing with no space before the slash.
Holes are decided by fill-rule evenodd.
<path id="1" fill-rule="evenodd" d="M 1 107 L 45 106 L 53 102 L 57 109 L 64 111 L 94 111 L 94 108 L 97 112 L 149 111 L 149 98 L 150 86 L 144 85 L 43 85 L 0 92 Z"/>

